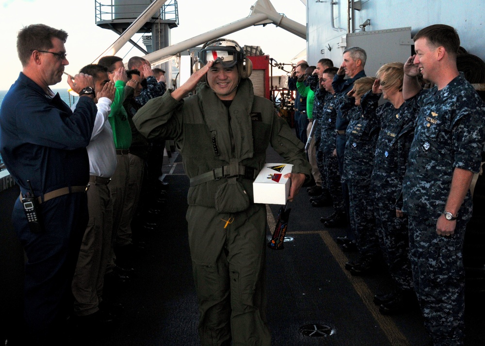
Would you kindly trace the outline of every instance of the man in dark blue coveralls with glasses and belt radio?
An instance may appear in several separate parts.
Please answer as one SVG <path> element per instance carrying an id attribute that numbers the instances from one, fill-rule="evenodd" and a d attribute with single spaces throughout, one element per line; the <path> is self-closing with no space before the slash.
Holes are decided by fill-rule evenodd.
<path id="1" fill-rule="evenodd" d="M 17 198 L 12 221 L 27 256 L 25 330 L 20 333 L 25 340 L 18 345 L 65 345 L 71 281 L 88 221 L 86 146 L 97 113 L 94 81 L 85 74 L 68 77 L 80 94 L 74 112 L 50 90 L 69 63 L 66 39 L 65 31 L 43 24 L 18 32 L 23 69 L 0 111 L 1 155 L 21 198 L 35 198 L 41 226 L 30 227 Z"/>

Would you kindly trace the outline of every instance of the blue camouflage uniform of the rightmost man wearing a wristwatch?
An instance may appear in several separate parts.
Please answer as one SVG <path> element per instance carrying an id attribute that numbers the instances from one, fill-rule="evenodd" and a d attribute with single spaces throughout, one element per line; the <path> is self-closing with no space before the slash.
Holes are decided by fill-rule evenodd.
<path id="1" fill-rule="evenodd" d="M 442 90 L 422 90 L 420 113 L 404 176 L 404 211 L 414 286 L 435 346 L 463 345 L 463 241 L 471 217 L 468 191 L 451 236 L 436 234 L 455 168 L 478 172 L 484 146 L 485 105 L 462 77 Z"/>

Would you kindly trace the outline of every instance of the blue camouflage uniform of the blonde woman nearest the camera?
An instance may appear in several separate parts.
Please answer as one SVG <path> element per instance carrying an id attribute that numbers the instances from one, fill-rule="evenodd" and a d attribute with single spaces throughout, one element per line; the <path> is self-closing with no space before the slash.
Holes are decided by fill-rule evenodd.
<path id="1" fill-rule="evenodd" d="M 376 117 L 380 119 L 381 131 L 371 176 L 381 251 L 396 288 L 408 292 L 413 290 L 413 278 L 409 262 L 407 216 L 396 217 L 396 209 L 402 210 L 402 199 L 399 197 L 418 111 L 416 98 L 404 102 L 399 109 L 390 102 L 377 108 Z"/>

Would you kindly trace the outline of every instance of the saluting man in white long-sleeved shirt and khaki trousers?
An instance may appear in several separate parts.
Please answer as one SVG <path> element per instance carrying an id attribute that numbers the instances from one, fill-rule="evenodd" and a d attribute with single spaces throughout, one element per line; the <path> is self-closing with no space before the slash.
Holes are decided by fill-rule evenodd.
<path id="1" fill-rule="evenodd" d="M 81 251 L 72 292 L 75 298 L 74 315 L 81 328 L 110 322 L 113 316 L 99 306 L 102 301 L 104 274 L 111 249 L 113 229 L 113 201 L 108 183 L 116 169 L 116 150 L 113 131 L 108 121 L 114 99 L 114 84 L 108 78 L 106 67 L 96 64 L 84 66 L 82 73 L 94 78 L 97 115 L 89 157 L 88 211 L 89 222 L 82 238 Z M 88 331 L 89 329 L 86 329 Z"/>

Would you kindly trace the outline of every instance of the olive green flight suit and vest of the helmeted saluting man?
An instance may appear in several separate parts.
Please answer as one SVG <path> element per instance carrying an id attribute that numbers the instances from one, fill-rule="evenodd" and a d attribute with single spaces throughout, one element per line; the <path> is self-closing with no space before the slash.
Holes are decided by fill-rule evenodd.
<path id="1" fill-rule="evenodd" d="M 147 138 L 174 139 L 191 178 L 187 221 L 201 344 L 269 346 L 266 209 L 253 203 L 252 183 L 269 144 L 293 173 L 309 176 L 303 143 L 271 101 L 253 94 L 249 79 L 229 108 L 203 83 L 180 102 L 170 93 L 151 99 L 133 121 Z"/>

